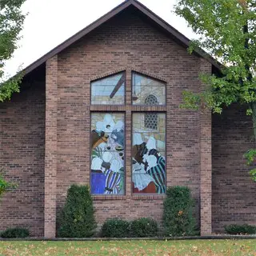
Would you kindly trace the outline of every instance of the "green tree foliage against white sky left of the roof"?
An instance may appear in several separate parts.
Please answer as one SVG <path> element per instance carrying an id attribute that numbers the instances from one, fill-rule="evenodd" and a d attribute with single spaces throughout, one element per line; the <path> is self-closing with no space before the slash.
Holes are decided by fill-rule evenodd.
<path id="1" fill-rule="evenodd" d="M 25 15 L 21 6 L 26 0 L 0 1 L 0 102 L 10 99 L 11 94 L 19 91 L 22 73 L 6 80 L 3 68 L 18 48 L 19 33 L 22 30 Z"/>

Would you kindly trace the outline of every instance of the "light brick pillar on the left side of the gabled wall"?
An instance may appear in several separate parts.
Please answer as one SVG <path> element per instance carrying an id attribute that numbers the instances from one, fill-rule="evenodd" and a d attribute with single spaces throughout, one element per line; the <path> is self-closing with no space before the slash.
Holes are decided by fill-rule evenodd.
<path id="1" fill-rule="evenodd" d="M 45 237 L 56 231 L 58 56 L 46 62 Z"/>

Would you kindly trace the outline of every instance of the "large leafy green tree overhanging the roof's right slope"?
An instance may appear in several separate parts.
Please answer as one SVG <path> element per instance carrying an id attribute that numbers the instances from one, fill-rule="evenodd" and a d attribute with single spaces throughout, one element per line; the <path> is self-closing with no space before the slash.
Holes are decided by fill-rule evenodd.
<path id="1" fill-rule="evenodd" d="M 202 74 L 206 89 L 198 94 L 183 93 L 183 107 L 210 108 L 221 114 L 223 107 L 238 103 L 251 115 L 256 148 L 256 2 L 255 0 L 178 0 L 175 13 L 186 19 L 199 35 L 191 42 L 222 63 L 220 75 Z M 254 162 L 256 149 L 246 152 Z M 250 175 L 256 182 L 256 170 Z"/>

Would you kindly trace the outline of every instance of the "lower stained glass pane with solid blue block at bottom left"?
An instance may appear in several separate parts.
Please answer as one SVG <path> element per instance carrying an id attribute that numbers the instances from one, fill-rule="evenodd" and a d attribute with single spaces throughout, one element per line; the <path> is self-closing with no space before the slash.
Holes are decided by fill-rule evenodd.
<path id="1" fill-rule="evenodd" d="M 91 114 L 92 194 L 125 194 L 125 121 L 124 114 Z"/>

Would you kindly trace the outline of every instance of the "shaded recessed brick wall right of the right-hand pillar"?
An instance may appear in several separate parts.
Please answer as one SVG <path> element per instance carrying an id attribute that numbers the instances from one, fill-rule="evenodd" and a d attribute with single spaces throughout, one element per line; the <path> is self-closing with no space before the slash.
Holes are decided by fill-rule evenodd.
<path id="1" fill-rule="evenodd" d="M 253 148 L 246 110 L 232 106 L 213 116 L 213 231 L 231 223 L 256 225 L 256 184 L 242 155 Z"/>

